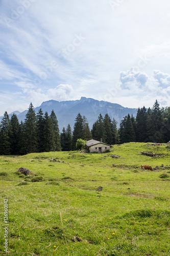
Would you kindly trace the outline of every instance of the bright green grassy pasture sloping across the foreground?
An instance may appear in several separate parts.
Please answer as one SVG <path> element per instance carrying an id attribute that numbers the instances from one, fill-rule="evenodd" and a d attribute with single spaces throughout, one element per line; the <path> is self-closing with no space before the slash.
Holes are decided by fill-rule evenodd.
<path id="1" fill-rule="evenodd" d="M 105 154 L 0 156 L 0 254 L 8 199 L 7 255 L 170 255 L 169 157 L 166 144 L 135 142 Z"/>

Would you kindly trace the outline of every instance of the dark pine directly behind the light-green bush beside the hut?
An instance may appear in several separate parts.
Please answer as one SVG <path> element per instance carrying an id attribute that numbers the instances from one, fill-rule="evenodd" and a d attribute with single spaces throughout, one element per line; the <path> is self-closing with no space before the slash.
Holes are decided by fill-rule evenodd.
<path id="1" fill-rule="evenodd" d="M 72 133 L 72 148 L 76 150 L 77 139 L 82 139 L 84 137 L 83 130 L 83 118 L 79 113 L 75 120 L 74 131 Z"/>

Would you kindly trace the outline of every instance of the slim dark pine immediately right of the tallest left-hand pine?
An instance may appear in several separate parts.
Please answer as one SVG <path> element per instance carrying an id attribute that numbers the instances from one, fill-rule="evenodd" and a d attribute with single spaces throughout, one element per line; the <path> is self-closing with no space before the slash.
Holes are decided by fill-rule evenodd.
<path id="1" fill-rule="evenodd" d="M 44 147 L 44 116 L 42 109 L 37 114 L 37 142 L 38 152 L 43 152 Z"/>

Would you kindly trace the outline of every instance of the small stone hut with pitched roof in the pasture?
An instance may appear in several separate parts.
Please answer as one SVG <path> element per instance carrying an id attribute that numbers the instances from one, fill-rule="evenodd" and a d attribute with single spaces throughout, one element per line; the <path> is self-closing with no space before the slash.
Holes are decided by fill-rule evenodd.
<path id="1" fill-rule="evenodd" d="M 88 140 L 86 142 L 86 147 L 90 153 L 96 152 L 96 153 L 105 153 L 107 151 L 110 151 L 111 145 L 108 145 L 106 143 L 98 140 Z"/>

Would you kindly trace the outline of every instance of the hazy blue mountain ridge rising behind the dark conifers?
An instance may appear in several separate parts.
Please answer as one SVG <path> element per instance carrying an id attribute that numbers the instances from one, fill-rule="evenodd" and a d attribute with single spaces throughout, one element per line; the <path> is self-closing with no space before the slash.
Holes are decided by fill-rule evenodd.
<path id="1" fill-rule="evenodd" d="M 113 120 L 117 121 L 118 125 L 120 121 L 128 114 L 136 117 L 137 109 L 124 108 L 124 106 L 111 103 L 107 101 L 99 101 L 92 98 L 81 97 L 80 100 L 68 100 L 68 101 L 57 101 L 57 100 L 48 100 L 42 102 L 40 106 L 35 108 L 35 112 L 38 113 L 38 110 L 42 109 L 42 112 L 48 112 L 48 115 L 51 114 L 52 110 L 56 113 L 59 129 L 62 132 L 63 127 L 67 127 L 68 123 L 71 126 L 71 129 L 74 127 L 75 119 L 78 113 L 82 116 L 85 116 L 88 120 L 90 129 L 92 128 L 93 123 L 98 119 L 99 114 L 101 113 L 104 117 L 105 114 L 108 114 Z M 9 117 L 15 113 L 19 121 L 24 121 L 27 110 L 23 112 L 14 111 L 9 114 Z M 0 120 L 3 116 L 0 117 Z"/>

